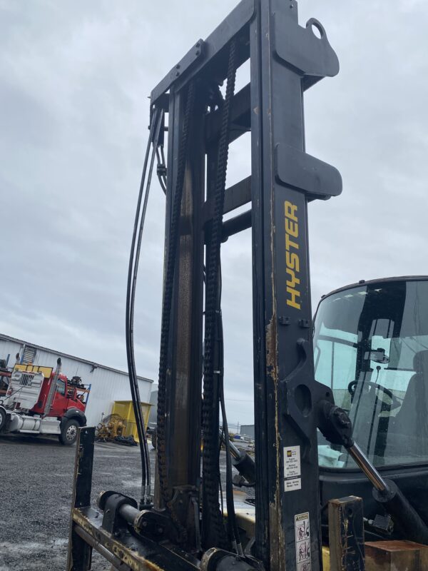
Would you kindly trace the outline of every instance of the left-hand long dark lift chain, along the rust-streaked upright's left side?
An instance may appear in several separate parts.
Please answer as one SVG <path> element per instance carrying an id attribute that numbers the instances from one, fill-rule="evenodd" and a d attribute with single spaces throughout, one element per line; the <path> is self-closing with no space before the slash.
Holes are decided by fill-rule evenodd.
<path id="1" fill-rule="evenodd" d="M 188 131 L 190 126 L 190 116 L 195 100 L 195 86 L 193 82 L 189 84 L 187 101 L 185 103 L 185 113 L 183 118 L 183 130 L 180 136 L 178 149 L 178 166 L 175 189 L 172 196 L 172 206 L 170 213 L 169 240 L 166 254 L 165 280 L 163 290 L 162 305 L 162 326 L 161 326 L 161 351 L 159 358 L 159 384 L 158 384 L 158 415 L 156 429 L 156 453 L 158 459 L 159 487 L 165 505 L 170 510 L 175 523 L 178 524 L 174 516 L 173 507 L 170 503 L 172 499 L 168 491 L 168 473 L 165 453 L 165 414 L 166 414 L 166 383 L 168 367 L 168 342 L 170 337 L 171 305 L 173 299 L 173 284 L 175 274 L 175 262 L 178 246 L 178 231 L 180 223 L 181 199 L 183 196 L 185 161 L 188 150 Z"/>

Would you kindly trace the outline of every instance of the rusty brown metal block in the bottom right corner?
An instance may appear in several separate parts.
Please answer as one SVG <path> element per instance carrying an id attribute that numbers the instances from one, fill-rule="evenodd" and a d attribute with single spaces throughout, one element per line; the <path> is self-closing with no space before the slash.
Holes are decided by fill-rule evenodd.
<path id="1" fill-rule="evenodd" d="M 428 546 L 412 541 L 368 541 L 366 571 L 426 571 Z"/>

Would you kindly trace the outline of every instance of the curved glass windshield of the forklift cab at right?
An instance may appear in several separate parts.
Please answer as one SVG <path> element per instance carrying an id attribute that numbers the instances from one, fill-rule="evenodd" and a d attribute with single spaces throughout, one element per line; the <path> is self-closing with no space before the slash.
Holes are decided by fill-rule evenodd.
<path id="1" fill-rule="evenodd" d="M 315 378 L 350 415 L 375 466 L 428 462 L 428 281 L 362 285 L 329 295 L 315 318 Z M 355 466 L 319 435 L 319 461 Z"/>

